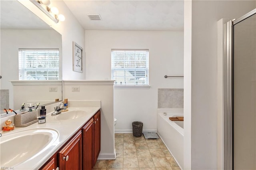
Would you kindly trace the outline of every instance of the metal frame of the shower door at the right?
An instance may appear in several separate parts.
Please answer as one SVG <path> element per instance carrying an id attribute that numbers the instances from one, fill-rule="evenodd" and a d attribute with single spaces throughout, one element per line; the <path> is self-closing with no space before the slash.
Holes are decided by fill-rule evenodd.
<path id="1" fill-rule="evenodd" d="M 234 170 L 234 25 L 256 9 L 225 24 L 224 32 L 224 169 Z"/>

